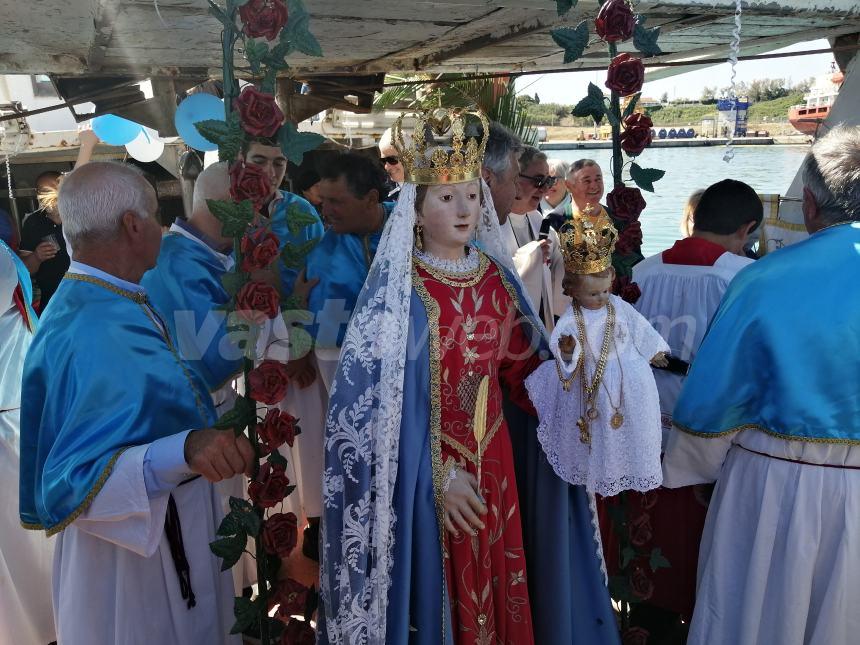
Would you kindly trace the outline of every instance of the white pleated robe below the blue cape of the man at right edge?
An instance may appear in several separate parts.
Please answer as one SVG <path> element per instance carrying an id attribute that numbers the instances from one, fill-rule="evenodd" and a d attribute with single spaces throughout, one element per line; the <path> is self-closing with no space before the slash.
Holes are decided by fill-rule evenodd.
<path id="1" fill-rule="evenodd" d="M 742 447 L 743 446 L 743 447 Z M 860 447 L 758 430 L 675 431 L 670 488 L 717 485 L 699 549 L 690 645 L 853 645 L 860 640 Z"/>

